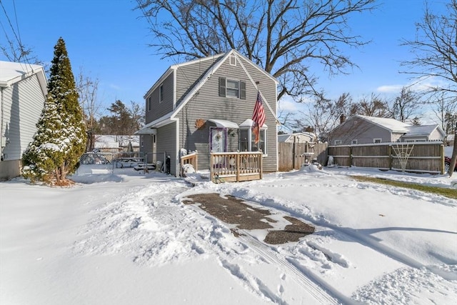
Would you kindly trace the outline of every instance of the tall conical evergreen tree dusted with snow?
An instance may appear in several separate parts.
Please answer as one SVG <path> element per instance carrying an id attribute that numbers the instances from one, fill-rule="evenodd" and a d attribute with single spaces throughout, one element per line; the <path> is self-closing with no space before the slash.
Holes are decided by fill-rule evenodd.
<path id="1" fill-rule="evenodd" d="M 86 148 L 84 115 L 65 41 L 54 46 L 48 94 L 34 140 L 22 156 L 22 174 L 32 181 L 64 185 Z"/>

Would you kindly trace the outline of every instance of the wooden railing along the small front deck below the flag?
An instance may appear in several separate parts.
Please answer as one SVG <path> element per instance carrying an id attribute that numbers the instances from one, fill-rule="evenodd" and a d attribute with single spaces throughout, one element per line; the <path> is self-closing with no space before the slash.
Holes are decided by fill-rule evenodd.
<path id="1" fill-rule="evenodd" d="M 262 179 L 262 152 L 211 153 L 211 181 L 239 182 Z"/>

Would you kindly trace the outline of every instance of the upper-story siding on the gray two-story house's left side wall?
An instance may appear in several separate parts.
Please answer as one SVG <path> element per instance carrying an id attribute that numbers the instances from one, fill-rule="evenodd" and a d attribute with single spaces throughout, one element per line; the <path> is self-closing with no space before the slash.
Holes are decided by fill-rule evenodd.
<path id="1" fill-rule="evenodd" d="M 151 94 L 146 96 L 146 124 L 173 111 L 173 81 L 174 76 L 171 73 L 163 82 L 157 84 Z M 164 86 L 164 100 L 160 101 L 160 86 L 162 84 Z M 151 96 L 151 111 L 149 111 L 149 96 Z"/>

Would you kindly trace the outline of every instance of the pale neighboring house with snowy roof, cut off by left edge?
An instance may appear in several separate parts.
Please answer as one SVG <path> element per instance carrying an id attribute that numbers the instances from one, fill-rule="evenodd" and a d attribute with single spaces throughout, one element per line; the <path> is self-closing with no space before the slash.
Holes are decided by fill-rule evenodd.
<path id="1" fill-rule="evenodd" d="M 36 64 L 0 61 L 0 181 L 21 174 L 21 158 L 36 132 L 47 81 Z"/>

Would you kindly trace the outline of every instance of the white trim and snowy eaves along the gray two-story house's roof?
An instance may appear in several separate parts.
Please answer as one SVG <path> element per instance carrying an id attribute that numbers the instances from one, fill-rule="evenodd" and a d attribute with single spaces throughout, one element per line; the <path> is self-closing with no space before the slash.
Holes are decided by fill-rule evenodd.
<path id="1" fill-rule="evenodd" d="M 258 87 L 257 84 L 256 84 L 256 81 L 254 81 L 254 79 L 248 73 L 248 70 L 244 67 L 244 64 L 241 61 L 241 59 L 244 59 L 248 64 L 251 64 L 251 66 L 256 68 L 258 71 L 260 71 L 262 74 L 264 74 L 268 78 L 272 79 L 276 84 L 278 84 L 278 81 L 275 78 L 273 78 L 273 76 L 271 76 L 271 74 L 268 74 L 265 70 L 261 69 L 260 66 L 257 66 L 256 64 L 253 64 L 253 62 L 251 60 L 249 60 L 246 56 L 243 56 L 241 53 L 239 53 L 236 50 L 231 50 L 231 51 L 228 51 L 228 52 L 226 52 L 224 54 L 218 54 L 218 55 L 214 55 L 214 56 L 209 56 L 209 57 L 206 57 L 204 59 L 196 59 L 196 60 L 193 60 L 193 61 L 187 61 L 187 62 L 185 62 L 183 64 L 176 64 L 176 65 L 170 66 L 169 69 L 167 69 L 167 71 L 164 74 L 162 74 L 160 79 L 158 81 L 156 81 L 156 83 L 154 83 L 153 86 L 151 86 L 151 89 L 149 89 L 146 92 L 146 94 L 144 95 L 145 99 L 146 99 L 146 96 L 148 96 L 152 91 L 154 91 L 154 89 L 156 89 L 156 87 L 159 86 L 162 83 L 162 81 L 164 81 L 164 79 L 166 79 L 167 76 L 169 76 L 173 71 L 176 71 L 176 69 L 178 69 L 180 66 L 186 66 L 186 65 L 189 65 L 189 64 L 196 64 L 196 63 L 201 62 L 201 61 L 219 59 L 219 60 L 214 61 L 214 64 L 206 71 L 205 74 L 203 74 L 201 76 L 200 81 L 197 82 L 191 88 L 191 90 L 189 90 L 189 93 L 186 94 L 186 96 L 184 96 L 184 98 L 180 102 L 179 106 L 174 108 L 174 110 L 171 111 L 169 114 L 166 114 L 165 116 L 162 116 L 161 118 L 156 119 L 154 121 L 151 121 L 149 124 L 146 124 L 145 126 L 143 126 L 142 129 L 137 131 L 135 134 L 149 134 L 150 131 L 148 131 L 147 129 L 151 129 L 153 127 L 163 126 L 163 125 L 169 124 L 171 121 L 173 121 L 175 119 L 176 114 L 179 114 L 179 111 L 181 111 L 181 109 L 184 106 L 186 106 L 186 104 L 194 97 L 194 95 L 199 91 L 199 89 L 201 89 L 201 87 L 204 86 L 206 81 L 208 81 L 208 79 L 214 74 L 214 72 L 216 72 L 219 69 L 219 67 L 222 64 L 224 64 L 224 62 L 226 60 L 229 59 L 229 56 L 233 56 L 233 55 L 236 56 L 236 60 L 243 67 L 244 71 L 246 72 L 246 75 L 248 76 L 248 78 L 252 82 L 253 86 L 255 86 L 256 88 Z M 261 94 L 261 92 L 260 92 L 260 94 Z M 276 113 L 273 111 L 273 109 L 271 108 L 270 104 L 265 99 L 265 96 L 263 96 L 262 94 L 261 94 L 261 96 L 263 98 L 264 104 L 267 106 L 267 108 L 269 109 L 271 114 L 273 114 L 274 118 L 278 122 L 278 118 L 276 116 Z M 176 105 L 176 101 L 174 101 L 174 105 Z"/>

